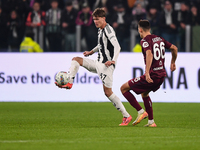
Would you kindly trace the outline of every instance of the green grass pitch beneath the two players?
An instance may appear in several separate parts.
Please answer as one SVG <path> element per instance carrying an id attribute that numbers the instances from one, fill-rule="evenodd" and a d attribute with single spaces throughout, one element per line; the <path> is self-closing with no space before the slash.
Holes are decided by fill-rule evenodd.
<path id="1" fill-rule="evenodd" d="M 136 111 L 124 103 L 133 121 Z M 142 104 L 143 106 L 143 104 Z M 105 103 L 0 103 L 0 150 L 199 150 L 200 103 L 153 103 L 157 128 Z"/>

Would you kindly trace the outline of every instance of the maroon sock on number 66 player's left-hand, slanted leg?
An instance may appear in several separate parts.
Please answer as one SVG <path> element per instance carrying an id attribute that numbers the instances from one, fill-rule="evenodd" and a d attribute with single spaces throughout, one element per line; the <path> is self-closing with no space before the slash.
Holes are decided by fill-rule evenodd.
<path id="1" fill-rule="evenodd" d="M 137 102 L 137 100 L 135 99 L 135 96 L 133 94 L 131 94 L 131 92 L 127 91 L 125 93 L 123 93 L 124 97 L 128 100 L 128 102 L 137 110 L 141 110 L 142 107 L 140 106 L 140 104 Z"/>

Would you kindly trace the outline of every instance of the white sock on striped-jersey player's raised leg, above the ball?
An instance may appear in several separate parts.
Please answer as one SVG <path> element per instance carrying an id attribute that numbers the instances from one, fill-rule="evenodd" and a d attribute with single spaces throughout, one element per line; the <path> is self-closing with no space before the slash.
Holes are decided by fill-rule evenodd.
<path id="1" fill-rule="evenodd" d="M 68 73 L 70 74 L 69 83 L 73 83 L 75 75 L 78 72 L 79 67 L 80 67 L 80 64 L 76 60 L 72 60 L 71 67 L 69 68 L 69 71 L 68 71 Z"/>

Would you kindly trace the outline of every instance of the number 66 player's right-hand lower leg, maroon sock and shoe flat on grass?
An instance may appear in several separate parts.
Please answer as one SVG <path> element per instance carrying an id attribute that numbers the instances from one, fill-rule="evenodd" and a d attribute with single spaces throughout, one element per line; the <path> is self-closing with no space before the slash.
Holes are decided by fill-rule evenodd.
<path id="1" fill-rule="evenodd" d="M 149 91 L 144 92 L 141 95 L 142 95 L 145 109 L 148 113 L 148 124 L 146 124 L 145 127 L 156 127 L 157 125 L 155 124 L 154 119 L 153 119 L 153 107 L 152 107 L 152 101 L 149 97 Z"/>

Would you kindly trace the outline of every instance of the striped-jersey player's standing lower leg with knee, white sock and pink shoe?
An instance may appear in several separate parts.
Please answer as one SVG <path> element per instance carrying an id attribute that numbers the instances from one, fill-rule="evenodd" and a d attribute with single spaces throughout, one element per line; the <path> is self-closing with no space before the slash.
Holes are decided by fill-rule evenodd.
<path id="1" fill-rule="evenodd" d="M 112 88 L 107 88 L 103 85 L 104 93 L 108 97 L 108 99 L 113 103 L 113 106 L 117 110 L 119 110 L 123 115 L 122 123 L 119 124 L 120 126 L 127 126 L 129 122 L 132 120 L 131 115 L 126 111 L 124 105 L 122 104 L 121 100 L 112 92 Z"/>

